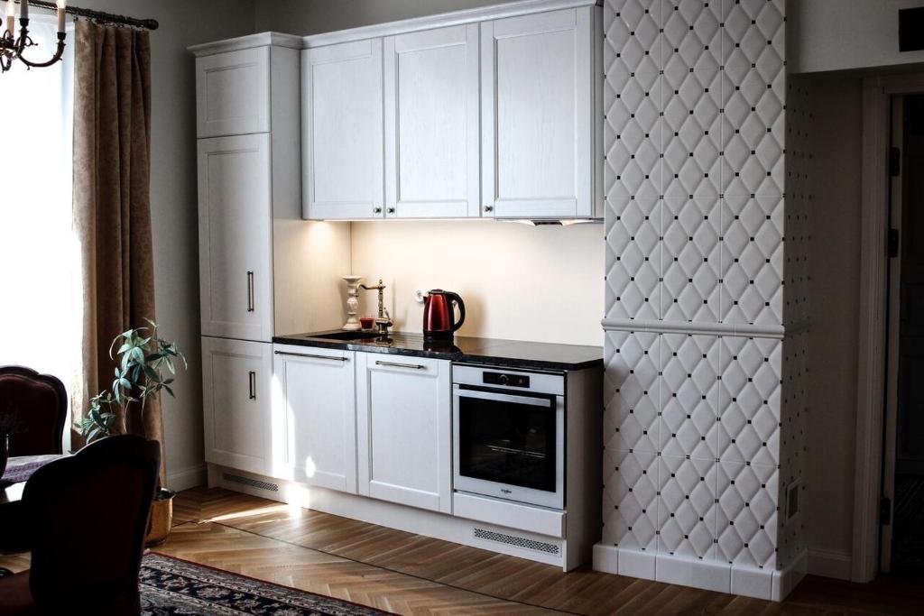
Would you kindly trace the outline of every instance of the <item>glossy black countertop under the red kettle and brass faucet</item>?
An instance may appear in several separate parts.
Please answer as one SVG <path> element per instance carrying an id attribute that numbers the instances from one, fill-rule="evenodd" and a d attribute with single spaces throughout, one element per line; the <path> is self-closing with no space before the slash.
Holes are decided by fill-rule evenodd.
<path id="1" fill-rule="evenodd" d="M 339 332 L 336 330 L 334 332 Z M 420 333 L 391 332 L 387 338 L 332 340 L 317 336 L 334 332 L 295 333 L 274 336 L 275 344 L 298 344 L 321 348 L 383 353 L 387 355 L 450 359 L 467 364 L 532 368 L 540 370 L 579 370 L 602 367 L 600 346 L 578 344 L 530 343 L 496 338 L 456 336 L 452 341 L 426 340 Z"/>

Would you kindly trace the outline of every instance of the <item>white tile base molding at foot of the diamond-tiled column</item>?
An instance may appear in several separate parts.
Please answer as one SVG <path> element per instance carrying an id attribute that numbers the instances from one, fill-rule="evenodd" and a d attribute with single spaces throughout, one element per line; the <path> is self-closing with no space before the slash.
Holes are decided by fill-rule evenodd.
<path id="1" fill-rule="evenodd" d="M 777 571 L 651 554 L 602 543 L 593 547 L 594 571 L 773 601 L 782 601 L 798 586 L 805 577 L 807 562 L 807 553 L 803 552 L 792 565 Z"/>

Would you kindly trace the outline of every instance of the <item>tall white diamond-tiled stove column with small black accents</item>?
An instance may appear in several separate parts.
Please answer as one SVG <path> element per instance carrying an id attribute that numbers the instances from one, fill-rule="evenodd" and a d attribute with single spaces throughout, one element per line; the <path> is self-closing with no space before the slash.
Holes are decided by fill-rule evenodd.
<path id="1" fill-rule="evenodd" d="M 784 0 L 606 0 L 601 571 L 782 599 L 799 515 L 809 115 Z"/>

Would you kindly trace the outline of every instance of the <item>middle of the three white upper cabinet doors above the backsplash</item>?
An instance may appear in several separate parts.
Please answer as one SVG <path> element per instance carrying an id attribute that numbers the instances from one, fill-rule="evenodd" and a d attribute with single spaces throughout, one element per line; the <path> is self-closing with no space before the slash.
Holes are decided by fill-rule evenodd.
<path id="1" fill-rule="evenodd" d="M 480 215 L 478 25 L 387 37 L 385 212 Z"/>

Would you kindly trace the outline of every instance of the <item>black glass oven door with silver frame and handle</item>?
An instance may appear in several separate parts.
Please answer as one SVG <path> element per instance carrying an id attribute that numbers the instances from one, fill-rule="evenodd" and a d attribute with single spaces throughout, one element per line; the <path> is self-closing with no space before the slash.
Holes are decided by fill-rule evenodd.
<path id="1" fill-rule="evenodd" d="M 548 394 L 456 389 L 456 474 L 469 488 L 535 504 L 561 501 L 561 414 Z M 485 483 L 487 482 L 487 483 Z M 535 492 L 545 497 L 533 496 Z M 560 506 L 560 505 L 559 505 Z"/>

